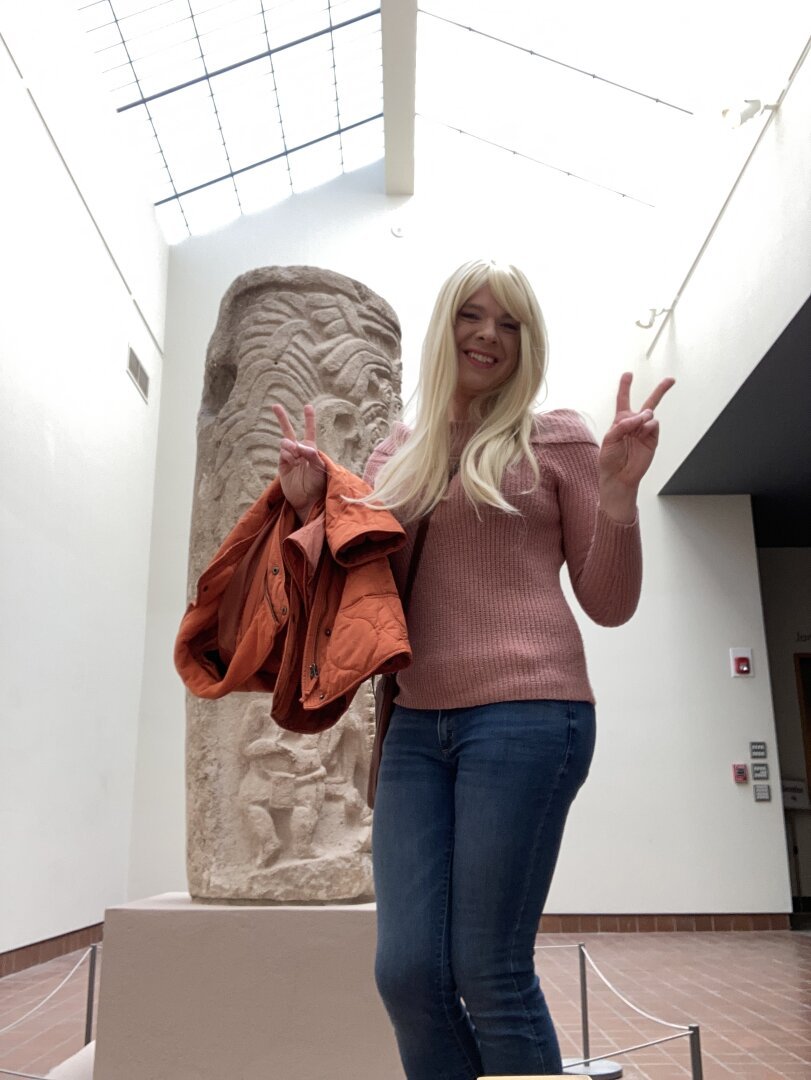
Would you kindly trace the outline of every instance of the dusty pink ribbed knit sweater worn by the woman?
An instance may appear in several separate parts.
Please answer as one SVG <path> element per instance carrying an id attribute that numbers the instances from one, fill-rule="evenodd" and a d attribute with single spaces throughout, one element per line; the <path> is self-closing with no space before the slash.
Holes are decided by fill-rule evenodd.
<path id="1" fill-rule="evenodd" d="M 373 453 L 364 478 L 408 437 L 398 423 Z M 472 433 L 452 426 L 451 460 Z M 502 490 L 521 516 L 468 501 L 458 476 L 434 510 L 408 610 L 411 665 L 397 674 L 397 702 L 458 708 L 553 698 L 594 701 L 583 642 L 560 588 L 564 562 L 583 610 L 604 626 L 634 613 L 641 584 L 638 521 L 622 525 L 597 505 L 597 444 L 577 413 L 537 417 L 532 449 L 509 469 Z M 522 491 L 528 491 L 523 495 Z M 391 556 L 405 588 L 416 523 Z"/>

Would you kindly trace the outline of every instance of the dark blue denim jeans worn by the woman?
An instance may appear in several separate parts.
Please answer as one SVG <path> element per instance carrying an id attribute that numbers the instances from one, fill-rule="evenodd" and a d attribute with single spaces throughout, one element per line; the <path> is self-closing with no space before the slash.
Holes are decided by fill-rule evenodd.
<path id="1" fill-rule="evenodd" d="M 408 1080 L 563 1071 L 533 947 L 594 706 L 395 706 L 375 802 L 376 977 Z"/>

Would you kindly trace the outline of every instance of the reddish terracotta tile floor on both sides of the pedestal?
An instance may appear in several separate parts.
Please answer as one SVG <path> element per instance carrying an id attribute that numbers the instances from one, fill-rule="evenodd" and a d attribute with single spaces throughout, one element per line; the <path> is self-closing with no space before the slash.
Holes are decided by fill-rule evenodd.
<path id="1" fill-rule="evenodd" d="M 585 942 L 607 978 L 637 1007 L 671 1023 L 701 1025 L 705 1080 L 811 1080 L 811 934 L 539 937 L 543 946 L 578 941 Z M 0 1028 L 50 993 L 81 955 L 73 953 L 0 980 Z M 537 959 L 564 1054 L 579 1057 L 577 950 L 543 948 Z M 0 1068 L 42 1076 L 81 1048 L 86 980 L 85 962 L 43 1010 L 0 1035 Z M 630 1010 L 591 970 L 589 1001 L 595 1055 L 616 1054 L 675 1034 Z M 623 1066 L 625 1080 L 686 1080 L 691 1076 L 687 1039 L 614 1059 Z"/>

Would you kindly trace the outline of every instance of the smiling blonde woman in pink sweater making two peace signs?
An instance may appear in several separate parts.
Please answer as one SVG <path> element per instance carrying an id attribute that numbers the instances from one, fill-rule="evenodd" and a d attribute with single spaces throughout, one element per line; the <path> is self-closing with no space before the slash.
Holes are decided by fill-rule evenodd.
<path id="1" fill-rule="evenodd" d="M 413 431 L 371 455 L 371 501 L 431 514 L 407 613 L 375 804 L 378 988 L 408 1080 L 562 1072 L 533 967 L 568 809 L 594 746 L 594 697 L 559 585 L 598 623 L 636 607 L 636 495 L 658 441 L 622 376 L 602 446 L 577 414 L 532 413 L 546 364 L 524 274 L 475 261 L 442 287 Z M 296 440 L 281 406 L 280 474 L 306 519 L 323 490 L 312 407 Z"/>

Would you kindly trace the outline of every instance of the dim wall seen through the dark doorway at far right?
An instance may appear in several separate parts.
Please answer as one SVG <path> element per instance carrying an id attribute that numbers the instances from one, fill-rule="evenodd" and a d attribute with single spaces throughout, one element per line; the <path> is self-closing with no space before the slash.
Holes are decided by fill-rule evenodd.
<path id="1" fill-rule="evenodd" d="M 787 780 L 806 780 L 802 718 L 794 657 L 811 653 L 811 548 L 758 550 L 763 618 L 769 648 L 780 771 Z M 776 784 L 772 785 L 773 787 Z M 799 881 L 811 895 L 811 811 L 789 811 L 798 847 Z"/>

